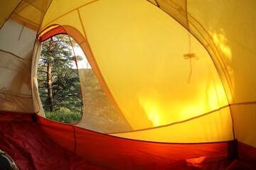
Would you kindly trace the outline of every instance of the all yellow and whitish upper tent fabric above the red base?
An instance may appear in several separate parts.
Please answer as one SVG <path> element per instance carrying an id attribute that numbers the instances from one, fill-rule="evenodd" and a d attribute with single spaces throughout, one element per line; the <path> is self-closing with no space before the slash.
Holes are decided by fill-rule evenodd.
<path id="1" fill-rule="evenodd" d="M 235 137 L 256 147 L 255 7 L 250 0 L 1 1 L 0 110 L 43 116 L 40 37 L 62 26 L 133 129 L 112 135 Z"/>

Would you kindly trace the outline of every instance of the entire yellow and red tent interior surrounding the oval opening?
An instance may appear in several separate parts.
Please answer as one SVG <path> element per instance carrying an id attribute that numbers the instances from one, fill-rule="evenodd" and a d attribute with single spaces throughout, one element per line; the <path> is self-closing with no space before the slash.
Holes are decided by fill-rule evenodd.
<path id="1" fill-rule="evenodd" d="M 19 169 L 256 169 L 255 8 L 1 0 L 0 149 Z M 46 118 L 38 62 L 59 34 L 78 43 L 117 118 L 90 127 L 87 104 L 78 123 Z"/>

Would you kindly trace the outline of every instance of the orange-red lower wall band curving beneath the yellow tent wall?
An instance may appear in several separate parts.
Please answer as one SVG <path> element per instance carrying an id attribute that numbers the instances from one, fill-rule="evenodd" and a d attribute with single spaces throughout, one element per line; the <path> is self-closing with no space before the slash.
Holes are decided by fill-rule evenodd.
<path id="1" fill-rule="evenodd" d="M 222 169 L 224 164 L 228 165 L 227 142 L 191 145 L 143 142 L 103 135 L 41 117 L 38 123 L 55 142 L 103 169 L 188 169 L 188 165 L 200 164 Z M 212 165 L 208 165 L 210 163 Z"/>

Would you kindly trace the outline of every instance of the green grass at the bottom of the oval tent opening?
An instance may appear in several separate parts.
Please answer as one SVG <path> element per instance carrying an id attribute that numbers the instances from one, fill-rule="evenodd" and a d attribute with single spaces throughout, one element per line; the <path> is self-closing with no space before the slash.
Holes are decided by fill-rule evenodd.
<path id="1" fill-rule="evenodd" d="M 82 115 L 79 112 L 56 111 L 50 113 L 46 111 L 46 118 L 63 123 L 77 123 L 81 120 Z"/>

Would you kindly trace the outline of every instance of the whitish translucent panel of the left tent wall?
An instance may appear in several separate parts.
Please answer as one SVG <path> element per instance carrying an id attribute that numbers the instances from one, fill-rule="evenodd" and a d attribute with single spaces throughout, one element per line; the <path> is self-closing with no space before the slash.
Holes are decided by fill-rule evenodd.
<path id="1" fill-rule="evenodd" d="M 1 111 L 33 113 L 31 60 L 36 31 L 7 21 L 0 31 Z"/>

